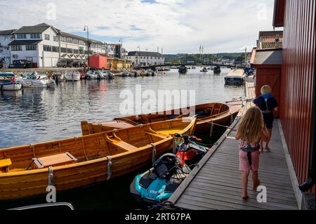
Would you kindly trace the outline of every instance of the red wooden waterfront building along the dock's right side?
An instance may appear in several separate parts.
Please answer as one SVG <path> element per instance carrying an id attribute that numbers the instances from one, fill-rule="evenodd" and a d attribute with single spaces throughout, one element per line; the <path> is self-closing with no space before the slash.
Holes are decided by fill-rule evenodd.
<path id="1" fill-rule="evenodd" d="M 273 86 L 300 189 L 315 193 L 315 1 L 275 0 L 273 26 L 284 27 L 282 50 L 254 49 L 256 85 Z"/>

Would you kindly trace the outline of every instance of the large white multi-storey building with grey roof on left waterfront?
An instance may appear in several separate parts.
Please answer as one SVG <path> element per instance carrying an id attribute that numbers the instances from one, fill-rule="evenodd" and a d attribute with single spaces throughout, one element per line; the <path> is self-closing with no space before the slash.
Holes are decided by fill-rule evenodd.
<path id="1" fill-rule="evenodd" d="M 10 34 L 9 34 L 10 33 Z M 106 53 L 106 45 L 101 41 L 89 40 L 74 34 L 60 31 L 51 25 L 41 23 L 25 26 L 17 30 L 0 32 L 0 55 L 8 60 L 29 60 L 34 67 L 55 67 L 58 60 L 84 61 L 89 54 Z M 90 43 L 90 52 L 88 52 Z M 0 48 L 1 50 L 1 48 Z"/>

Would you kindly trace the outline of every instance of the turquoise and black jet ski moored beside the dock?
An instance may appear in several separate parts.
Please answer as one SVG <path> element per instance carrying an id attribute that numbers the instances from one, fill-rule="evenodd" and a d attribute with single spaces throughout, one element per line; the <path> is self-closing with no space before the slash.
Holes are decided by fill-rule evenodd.
<path id="1" fill-rule="evenodd" d="M 180 166 L 181 160 L 171 153 L 164 154 L 152 169 L 134 178 L 129 190 L 137 199 L 145 202 L 164 202 L 190 173 L 189 166 Z"/>

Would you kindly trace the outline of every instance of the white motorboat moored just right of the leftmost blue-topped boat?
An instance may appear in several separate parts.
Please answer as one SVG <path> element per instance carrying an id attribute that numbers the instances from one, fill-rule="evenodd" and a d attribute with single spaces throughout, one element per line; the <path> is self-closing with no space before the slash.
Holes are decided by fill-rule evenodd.
<path id="1" fill-rule="evenodd" d="M 48 79 L 46 74 L 37 74 L 37 72 L 33 72 L 32 74 L 23 74 L 23 76 L 17 80 L 20 81 L 22 86 L 26 88 L 55 86 L 55 81 L 53 79 Z"/>

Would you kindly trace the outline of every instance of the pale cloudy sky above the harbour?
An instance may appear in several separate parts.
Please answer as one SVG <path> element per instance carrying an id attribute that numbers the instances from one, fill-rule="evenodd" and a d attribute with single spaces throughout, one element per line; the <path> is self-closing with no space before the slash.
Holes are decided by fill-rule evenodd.
<path id="1" fill-rule="evenodd" d="M 242 52 L 272 30 L 274 0 L 1 0 L 0 30 L 46 22 L 127 51 Z"/>

